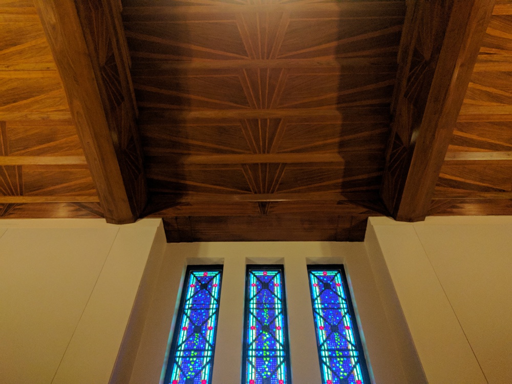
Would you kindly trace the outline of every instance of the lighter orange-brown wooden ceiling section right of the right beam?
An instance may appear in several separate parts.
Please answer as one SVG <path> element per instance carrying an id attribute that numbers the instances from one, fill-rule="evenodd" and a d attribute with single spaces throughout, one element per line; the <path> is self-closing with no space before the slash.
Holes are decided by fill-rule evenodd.
<path id="1" fill-rule="evenodd" d="M 511 7 L 510 0 L 494 7 L 441 168 L 433 214 L 510 214 L 503 200 L 512 198 Z"/>

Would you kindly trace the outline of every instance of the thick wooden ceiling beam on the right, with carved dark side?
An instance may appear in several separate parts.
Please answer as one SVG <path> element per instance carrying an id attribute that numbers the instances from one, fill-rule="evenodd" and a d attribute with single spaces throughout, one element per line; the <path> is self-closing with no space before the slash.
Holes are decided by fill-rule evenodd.
<path id="1" fill-rule="evenodd" d="M 428 214 L 494 3 L 409 2 L 380 189 L 396 220 Z"/>

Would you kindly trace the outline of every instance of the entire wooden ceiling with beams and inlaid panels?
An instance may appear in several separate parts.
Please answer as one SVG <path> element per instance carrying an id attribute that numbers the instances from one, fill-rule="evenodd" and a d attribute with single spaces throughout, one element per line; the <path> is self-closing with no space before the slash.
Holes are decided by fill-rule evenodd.
<path id="1" fill-rule="evenodd" d="M 0 0 L 0 217 L 168 241 L 512 214 L 512 0 Z"/>

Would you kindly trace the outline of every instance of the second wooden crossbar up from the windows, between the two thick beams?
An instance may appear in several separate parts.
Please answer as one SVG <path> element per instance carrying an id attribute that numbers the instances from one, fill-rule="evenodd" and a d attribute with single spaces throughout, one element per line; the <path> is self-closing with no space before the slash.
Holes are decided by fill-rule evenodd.
<path id="1" fill-rule="evenodd" d="M 247 155 L 189 155 L 148 156 L 147 163 L 168 164 L 263 164 L 263 163 L 345 163 L 347 160 L 381 157 L 381 153 L 349 152 L 344 154 L 247 154 Z"/>

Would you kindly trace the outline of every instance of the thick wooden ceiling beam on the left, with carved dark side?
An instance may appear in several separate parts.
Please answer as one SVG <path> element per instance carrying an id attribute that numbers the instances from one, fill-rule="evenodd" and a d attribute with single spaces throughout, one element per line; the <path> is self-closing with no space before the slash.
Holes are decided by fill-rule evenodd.
<path id="1" fill-rule="evenodd" d="M 104 217 L 137 220 L 147 200 L 120 2 L 35 0 Z"/>

